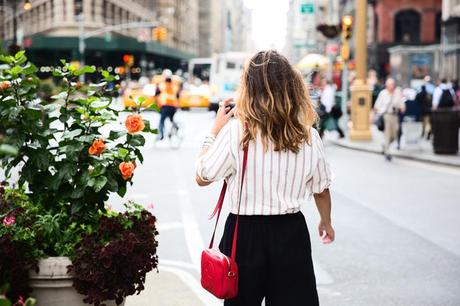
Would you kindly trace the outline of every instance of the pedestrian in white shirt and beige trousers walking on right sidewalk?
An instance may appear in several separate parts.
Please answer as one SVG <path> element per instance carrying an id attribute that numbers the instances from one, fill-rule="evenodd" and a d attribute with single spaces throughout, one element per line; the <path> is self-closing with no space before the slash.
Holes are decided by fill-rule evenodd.
<path id="1" fill-rule="evenodd" d="M 389 151 L 393 141 L 398 139 L 400 129 L 399 113 L 404 113 L 405 104 L 401 89 L 396 87 L 395 80 L 387 79 L 385 89 L 382 90 L 375 101 L 374 112 L 383 120 L 384 145 L 383 154 L 388 161 L 391 161 Z"/>

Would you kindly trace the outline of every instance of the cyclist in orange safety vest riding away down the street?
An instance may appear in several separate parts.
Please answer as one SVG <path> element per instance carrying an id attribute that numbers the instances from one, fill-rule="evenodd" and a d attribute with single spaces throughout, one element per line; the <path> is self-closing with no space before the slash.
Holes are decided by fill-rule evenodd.
<path id="1" fill-rule="evenodd" d="M 158 127 L 158 139 L 164 139 L 164 128 L 166 118 L 171 120 L 173 128 L 179 129 L 179 126 L 174 122 L 174 114 L 179 107 L 179 88 L 173 83 L 171 77 L 166 77 L 165 81 L 160 84 L 156 91 L 156 99 L 160 107 L 160 126 Z"/>

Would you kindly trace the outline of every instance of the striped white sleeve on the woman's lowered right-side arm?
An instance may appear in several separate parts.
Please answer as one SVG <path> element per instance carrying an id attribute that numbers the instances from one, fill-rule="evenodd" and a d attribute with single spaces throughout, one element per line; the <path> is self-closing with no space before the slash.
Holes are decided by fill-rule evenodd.
<path id="1" fill-rule="evenodd" d="M 307 183 L 310 194 L 323 192 L 330 187 L 332 182 L 332 173 L 324 153 L 323 141 L 314 129 L 312 129 L 312 148 L 312 154 L 317 155 L 318 158 L 316 163 L 313 164 L 313 174 Z"/>

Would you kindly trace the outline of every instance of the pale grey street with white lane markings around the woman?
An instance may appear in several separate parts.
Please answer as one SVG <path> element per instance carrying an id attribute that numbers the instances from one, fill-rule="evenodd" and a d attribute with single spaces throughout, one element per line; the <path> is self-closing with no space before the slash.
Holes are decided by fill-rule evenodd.
<path id="1" fill-rule="evenodd" d="M 144 116 L 157 124 L 156 113 Z M 200 188 L 194 181 L 195 158 L 213 117 L 207 111 L 178 113 L 185 134 L 178 150 L 148 137 L 145 162 L 126 198 L 154 205 L 160 267 L 127 306 L 220 304 L 201 289 L 199 264 L 221 184 Z M 383 156 L 327 140 L 326 151 L 335 174 L 336 242 L 322 245 L 314 203 L 306 201 L 303 209 L 321 305 L 460 305 L 460 168 L 400 159 L 388 163 Z M 110 204 L 122 207 L 117 196 Z"/>

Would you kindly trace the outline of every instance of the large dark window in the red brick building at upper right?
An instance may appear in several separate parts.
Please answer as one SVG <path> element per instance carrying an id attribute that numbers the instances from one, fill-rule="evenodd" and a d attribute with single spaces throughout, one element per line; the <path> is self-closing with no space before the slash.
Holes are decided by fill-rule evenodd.
<path id="1" fill-rule="evenodd" d="M 420 14 L 414 10 L 398 12 L 395 16 L 395 42 L 420 42 L 420 19 Z"/>

